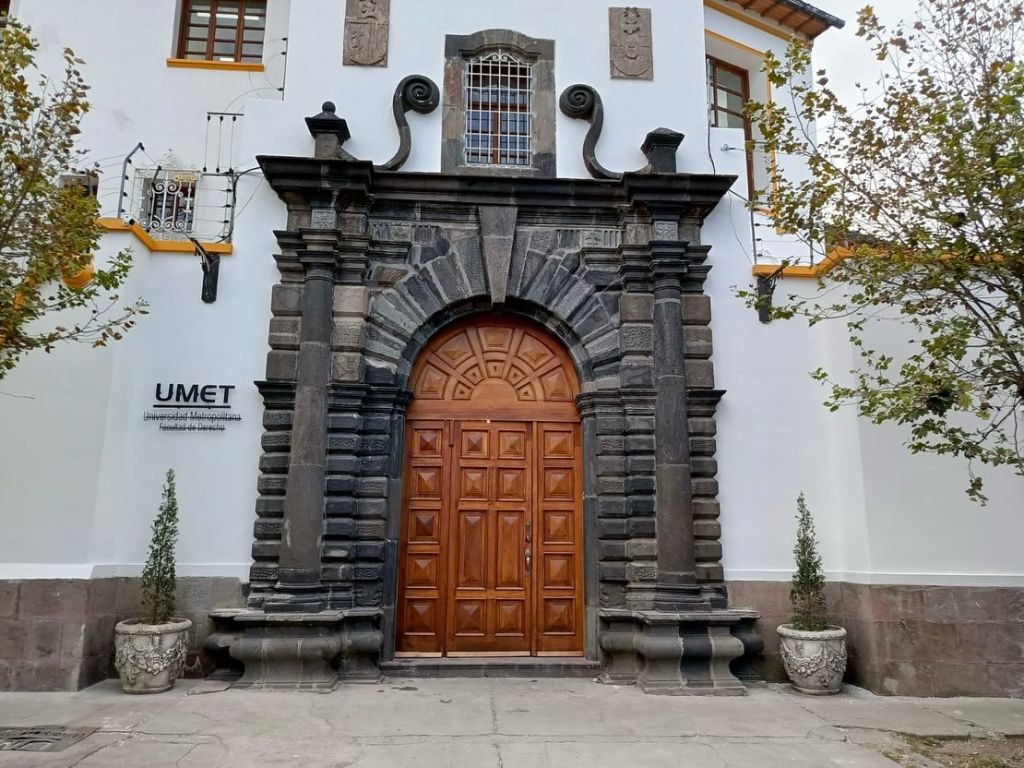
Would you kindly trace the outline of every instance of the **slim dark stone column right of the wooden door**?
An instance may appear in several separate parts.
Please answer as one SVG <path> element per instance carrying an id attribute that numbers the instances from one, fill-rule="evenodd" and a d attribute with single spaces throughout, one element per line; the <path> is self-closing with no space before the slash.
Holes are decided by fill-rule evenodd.
<path id="1" fill-rule="evenodd" d="M 655 231 L 663 227 L 655 222 Z M 654 607 L 706 607 L 696 584 L 682 325 L 686 244 L 651 243 L 654 281 L 654 475 L 657 586 Z"/>

